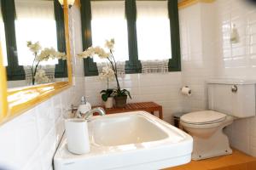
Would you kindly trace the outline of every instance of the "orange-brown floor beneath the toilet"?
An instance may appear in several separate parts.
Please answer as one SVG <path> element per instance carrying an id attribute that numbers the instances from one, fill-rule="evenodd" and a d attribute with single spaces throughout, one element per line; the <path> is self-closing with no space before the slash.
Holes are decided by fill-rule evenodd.
<path id="1" fill-rule="evenodd" d="M 219 156 L 202 161 L 190 161 L 186 165 L 165 170 L 256 170 L 256 157 L 233 150 L 229 156 Z"/>

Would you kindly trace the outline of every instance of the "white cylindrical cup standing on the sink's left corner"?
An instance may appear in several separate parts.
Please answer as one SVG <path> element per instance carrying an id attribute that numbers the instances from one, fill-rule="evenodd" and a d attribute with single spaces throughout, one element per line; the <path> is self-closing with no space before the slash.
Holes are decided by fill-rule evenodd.
<path id="1" fill-rule="evenodd" d="M 65 120 L 67 150 L 73 154 L 90 152 L 88 124 L 84 119 Z"/>

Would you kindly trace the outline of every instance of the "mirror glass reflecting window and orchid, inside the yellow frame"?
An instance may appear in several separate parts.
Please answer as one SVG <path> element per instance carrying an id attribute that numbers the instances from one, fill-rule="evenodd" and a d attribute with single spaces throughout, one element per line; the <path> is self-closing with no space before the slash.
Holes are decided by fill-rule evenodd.
<path id="1" fill-rule="evenodd" d="M 58 0 L 1 0 L 0 34 L 9 88 L 67 81 Z"/>

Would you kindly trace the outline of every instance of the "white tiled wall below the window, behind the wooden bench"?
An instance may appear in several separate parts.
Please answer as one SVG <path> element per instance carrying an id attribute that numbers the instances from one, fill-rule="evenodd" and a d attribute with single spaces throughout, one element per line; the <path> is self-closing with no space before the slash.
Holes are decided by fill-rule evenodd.
<path id="1" fill-rule="evenodd" d="M 128 102 L 154 101 L 163 106 L 166 122 L 172 122 L 172 114 L 182 111 L 181 73 L 166 74 L 130 74 L 119 79 L 121 88 L 130 90 L 132 99 Z M 114 88 L 111 82 L 109 88 Z M 107 88 L 107 83 L 98 77 L 85 77 L 85 96 L 92 105 L 102 104 L 100 92 Z"/>

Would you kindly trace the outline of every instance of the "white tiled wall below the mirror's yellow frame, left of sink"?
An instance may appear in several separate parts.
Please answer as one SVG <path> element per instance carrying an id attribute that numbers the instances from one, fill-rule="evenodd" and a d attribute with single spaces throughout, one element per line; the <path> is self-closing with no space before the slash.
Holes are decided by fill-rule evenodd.
<path id="1" fill-rule="evenodd" d="M 61 131 L 55 131 L 61 122 L 60 110 L 52 105 L 60 95 L 47 100 L 0 128 L 0 160 L 15 169 L 49 169 Z M 56 112 L 53 112 L 53 111 Z M 33 162 L 33 164 L 32 164 Z M 47 163 L 46 163 L 47 162 Z"/>

